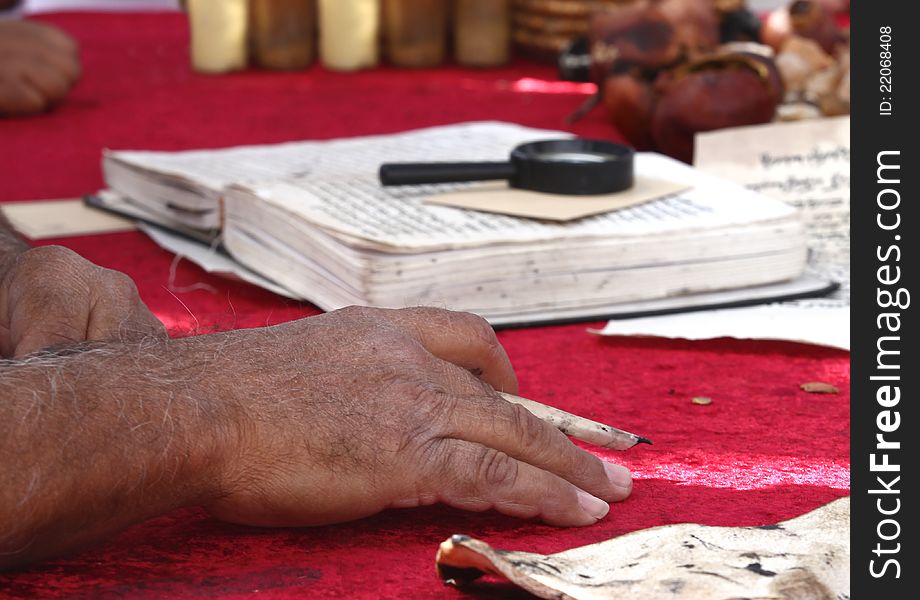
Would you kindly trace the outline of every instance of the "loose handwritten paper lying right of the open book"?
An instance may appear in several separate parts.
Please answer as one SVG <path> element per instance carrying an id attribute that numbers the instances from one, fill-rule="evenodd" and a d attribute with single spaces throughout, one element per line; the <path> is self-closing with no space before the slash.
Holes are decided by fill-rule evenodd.
<path id="1" fill-rule="evenodd" d="M 850 121 L 835 117 L 701 134 L 697 168 L 790 206 L 805 220 L 807 272 L 841 289 L 816 300 L 610 321 L 603 335 L 783 339 L 849 349 Z"/>

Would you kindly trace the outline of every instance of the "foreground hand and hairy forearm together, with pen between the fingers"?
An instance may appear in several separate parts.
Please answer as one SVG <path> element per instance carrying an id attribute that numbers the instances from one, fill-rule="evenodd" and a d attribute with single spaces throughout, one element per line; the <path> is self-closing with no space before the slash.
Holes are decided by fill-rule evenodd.
<path id="1" fill-rule="evenodd" d="M 495 389 L 517 382 L 491 327 L 426 308 L 0 363 L 0 464 L 17 465 L 0 569 L 180 506 L 304 526 L 443 502 L 582 526 L 629 495 L 628 470 Z"/>

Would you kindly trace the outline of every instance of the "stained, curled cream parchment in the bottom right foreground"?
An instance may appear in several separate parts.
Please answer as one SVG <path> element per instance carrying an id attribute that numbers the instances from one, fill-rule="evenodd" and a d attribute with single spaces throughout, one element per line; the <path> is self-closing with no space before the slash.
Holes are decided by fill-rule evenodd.
<path id="1" fill-rule="evenodd" d="M 849 597 L 849 521 L 841 498 L 777 525 L 667 525 L 548 556 L 455 535 L 437 568 L 453 585 L 492 573 L 563 600 L 833 600 Z"/>

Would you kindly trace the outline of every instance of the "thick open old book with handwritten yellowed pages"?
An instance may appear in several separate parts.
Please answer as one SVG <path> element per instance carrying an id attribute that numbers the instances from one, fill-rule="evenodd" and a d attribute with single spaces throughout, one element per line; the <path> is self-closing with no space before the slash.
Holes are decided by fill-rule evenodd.
<path id="1" fill-rule="evenodd" d="M 795 209 L 661 155 L 639 154 L 637 176 L 686 191 L 570 222 L 425 202 L 469 184 L 377 181 L 382 162 L 503 160 L 520 143 L 560 137 L 568 134 L 481 122 L 225 150 L 108 152 L 103 167 L 139 216 L 219 232 L 236 261 L 326 310 L 434 305 L 513 324 L 602 318 L 636 302 L 667 311 L 710 303 L 711 293 L 744 301 L 825 288 L 796 282 L 807 248 Z"/>

